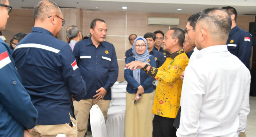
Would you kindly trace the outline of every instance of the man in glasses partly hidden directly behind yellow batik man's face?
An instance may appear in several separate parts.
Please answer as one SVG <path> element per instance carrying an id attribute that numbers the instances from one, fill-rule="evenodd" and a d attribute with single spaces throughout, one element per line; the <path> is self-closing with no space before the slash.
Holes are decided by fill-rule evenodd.
<path id="1" fill-rule="evenodd" d="M 166 58 L 167 55 L 170 55 L 168 51 L 163 50 L 163 47 L 161 47 L 163 43 L 163 36 L 165 35 L 163 31 L 155 31 L 154 34 L 156 34 L 156 42 L 154 44 L 154 49 L 158 50 L 159 52 L 163 53 L 163 56 Z"/>

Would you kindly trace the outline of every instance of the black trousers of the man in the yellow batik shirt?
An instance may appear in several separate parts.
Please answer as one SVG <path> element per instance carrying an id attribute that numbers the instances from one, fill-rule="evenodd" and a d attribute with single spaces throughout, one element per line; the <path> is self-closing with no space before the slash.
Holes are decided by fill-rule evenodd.
<path id="1" fill-rule="evenodd" d="M 177 137 L 174 119 L 155 115 L 153 119 L 153 137 Z"/>

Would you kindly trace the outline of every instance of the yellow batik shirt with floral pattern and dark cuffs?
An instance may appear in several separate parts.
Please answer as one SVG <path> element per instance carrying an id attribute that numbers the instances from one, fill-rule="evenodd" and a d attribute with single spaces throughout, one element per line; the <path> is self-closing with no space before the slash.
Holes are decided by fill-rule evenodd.
<path id="1" fill-rule="evenodd" d="M 159 68 L 150 67 L 148 74 L 158 80 L 152 112 L 162 117 L 175 118 L 180 107 L 181 72 L 189 59 L 183 49 L 167 56 Z"/>

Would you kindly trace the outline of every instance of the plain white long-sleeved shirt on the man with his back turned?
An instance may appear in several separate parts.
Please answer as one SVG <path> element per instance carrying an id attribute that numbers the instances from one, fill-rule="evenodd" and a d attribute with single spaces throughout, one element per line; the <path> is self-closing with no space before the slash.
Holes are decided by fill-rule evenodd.
<path id="1" fill-rule="evenodd" d="M 250 72 L 226 45 L 198 51 L 185 70 L 178 137 L 238 137 L 249 114 Z"/>

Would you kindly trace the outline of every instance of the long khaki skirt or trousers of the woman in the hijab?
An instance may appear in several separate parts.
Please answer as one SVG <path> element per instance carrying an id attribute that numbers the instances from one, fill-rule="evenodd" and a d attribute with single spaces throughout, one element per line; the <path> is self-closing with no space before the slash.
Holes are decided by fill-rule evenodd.
<path id="1" fill-rule="evenodd" d="M 134 104 L 136 94 L 126 92 L 125 137 L 152 137 L 154 93 L 145 93 Z"/>

